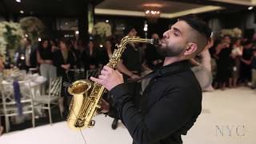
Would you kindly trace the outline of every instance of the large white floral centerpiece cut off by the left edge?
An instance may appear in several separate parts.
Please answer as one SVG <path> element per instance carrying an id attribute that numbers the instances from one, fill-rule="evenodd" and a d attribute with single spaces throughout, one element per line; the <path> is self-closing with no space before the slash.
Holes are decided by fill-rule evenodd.
<path id="1" fill-rule="evenodd" d="M 0 22 L 0 56 L 6 60 L 6 51 L 16 49 L 23 37 L 23 30 L 19 23 Z"/>

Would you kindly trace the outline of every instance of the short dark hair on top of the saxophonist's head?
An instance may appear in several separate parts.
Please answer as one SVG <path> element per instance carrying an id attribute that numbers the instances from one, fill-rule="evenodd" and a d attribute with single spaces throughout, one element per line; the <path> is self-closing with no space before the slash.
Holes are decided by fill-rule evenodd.
<path id="1" fill-rule="evenodd" d="M 178 18 L 178 21 L 185 21 L 194 30 L 197 30 L 199 34 L 202 34 L 206 38 L 206 41 L 210 39 L 210 27 L 206 24 L 206 22 L 202 21 L 202 19 L 198 18 L 195 14 L 185 15 L 181 18 Z"/>

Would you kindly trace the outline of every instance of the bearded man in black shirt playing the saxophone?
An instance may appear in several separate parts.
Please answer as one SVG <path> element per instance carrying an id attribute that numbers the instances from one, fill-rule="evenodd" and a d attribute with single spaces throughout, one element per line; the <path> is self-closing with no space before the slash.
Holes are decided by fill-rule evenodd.
<path id="1" fill-rule="evenodd" d="M 113 98 L 112 105 L 128 129 L 134 144 L 180 144 L 202 110 L 202 90 L 189 59 L 206 46 L 211 30 L 193 14 L 178 19 L 163 34 L 158 52 L 163 66 L 152 73 L 142 94 L 142 105 L 134 105 L 122 74 L 104 66 L 98 78 Z"/>

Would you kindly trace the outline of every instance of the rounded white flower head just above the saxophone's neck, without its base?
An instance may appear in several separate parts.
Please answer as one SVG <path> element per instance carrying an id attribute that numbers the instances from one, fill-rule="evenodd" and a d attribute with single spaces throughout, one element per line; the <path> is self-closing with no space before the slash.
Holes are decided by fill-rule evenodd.
<path id="1" fill-rule="evenodd" d="M 111 36 L 111 26 L 106 22 L 98 22 L 94 25 L 92 30 L 93 35 L 99 35 L 100 37 L 110 37 Z"/>

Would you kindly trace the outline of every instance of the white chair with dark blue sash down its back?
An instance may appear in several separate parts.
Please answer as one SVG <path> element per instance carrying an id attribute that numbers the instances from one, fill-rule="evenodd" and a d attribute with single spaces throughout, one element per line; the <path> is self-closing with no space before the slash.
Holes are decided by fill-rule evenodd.
<path id="1" fill-rule="evenodd" d="M 32 114 L 32 126 L 34 127 L 34 105 L 30 81 L 20 81 L 18 83 L 21 92 L 22 114 Z M 2 111 L 6 119 L 6 132 L 10 130 L 9 118 L 19 115 L 16 104 L 13 82 L 2 82 Z"/>

